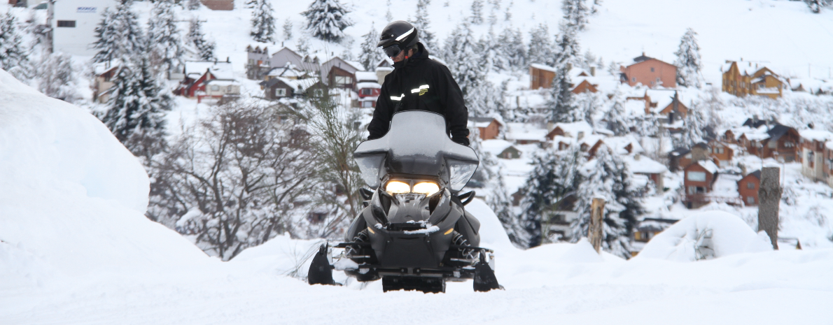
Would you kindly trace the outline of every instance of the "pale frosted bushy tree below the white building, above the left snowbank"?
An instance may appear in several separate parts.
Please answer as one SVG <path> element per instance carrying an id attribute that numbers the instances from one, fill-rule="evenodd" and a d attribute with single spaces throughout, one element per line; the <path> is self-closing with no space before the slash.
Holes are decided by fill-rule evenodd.
<path id="1" fill-rule="evenodd" d="M 81 98 L 77 90 L 77 73 L 68 54 L 52 53 L 41 62 L 38 70 L 37 90 L 44 95 L 68 102 Z"/>

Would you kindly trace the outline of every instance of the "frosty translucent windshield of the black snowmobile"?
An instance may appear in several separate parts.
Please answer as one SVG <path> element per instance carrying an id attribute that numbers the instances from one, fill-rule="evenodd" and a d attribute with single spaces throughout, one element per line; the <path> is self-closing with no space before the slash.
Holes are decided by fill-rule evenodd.
<path id="1" fill-rule="evenodd" d="M 362 142 L 353 156 L 374 189 L 387 174 L 407 174 L 436 176 L 456 192 L 480 163 L 474 150 L 448 137 L 445 118 L 430 111 L 397 112 L 387 134 Z"/>

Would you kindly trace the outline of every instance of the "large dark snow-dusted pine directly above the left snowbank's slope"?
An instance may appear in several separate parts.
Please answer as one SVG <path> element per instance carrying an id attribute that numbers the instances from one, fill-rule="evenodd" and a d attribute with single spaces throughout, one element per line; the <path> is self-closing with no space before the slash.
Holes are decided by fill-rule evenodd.
<path id="1" fill-rule="evenodd" d="M 122 66 L 107 100 L 102 122 L 133 155 L 150 157 L 162 150 L 165 112 L 173 100 L 142 57 L 137 66 Z"/>

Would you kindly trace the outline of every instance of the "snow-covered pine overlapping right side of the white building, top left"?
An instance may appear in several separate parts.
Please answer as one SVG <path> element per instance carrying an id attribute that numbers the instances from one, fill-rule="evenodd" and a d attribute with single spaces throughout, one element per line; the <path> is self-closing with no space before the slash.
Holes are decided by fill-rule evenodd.
<path id="1" fill-rule="evenodd" d="M 147 42 L 132 5 L 132 0 L 121 0 L 112 11 L 106 8 L 102 12 L 95 29 L 96 42 L 92 42 L 97 50 L 92 62 L 128 62 L 145 51 Z"/>

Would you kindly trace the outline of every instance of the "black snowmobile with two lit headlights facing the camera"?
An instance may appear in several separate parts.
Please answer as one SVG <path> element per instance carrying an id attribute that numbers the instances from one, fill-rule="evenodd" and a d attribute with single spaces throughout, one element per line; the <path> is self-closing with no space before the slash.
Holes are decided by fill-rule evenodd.
<path id="1" fill-rule="evenodd" d="M 335 284 L 332 269 L 357 281 L 382 279 L 383 291 L 444 293 L 446 281 L 474 280 L 475 291 L 501 288 L 494 252 L 478 247 L 480 222 L 466 212 L 473 191 L 459 194 L 480 160 L 449 139 L 443 116 L 400 111 L 387 135 L 366 140 L 353 153 L 362 179 L 364 208 L 333 258 L 322 244 L 307 273 L 310 284 Z M 331 261 L 335 259 L 334 263 Z"/>

